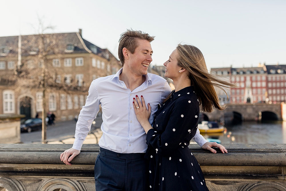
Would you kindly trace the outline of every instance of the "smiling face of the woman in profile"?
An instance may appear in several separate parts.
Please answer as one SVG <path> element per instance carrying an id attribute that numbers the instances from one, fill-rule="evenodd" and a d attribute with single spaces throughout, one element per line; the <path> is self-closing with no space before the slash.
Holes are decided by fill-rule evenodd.
<path id="1" fill-rule="evenodd" d="M 180 75 L 179 73 L 180 67 L 178 66 L 177 58 L 178 58 L 178 50 L 175 49 L 169 56 L 169 59 L 164 63 L 164 66 L 166 66 L 164 76 L 172 79 L 173 81 Z"/>

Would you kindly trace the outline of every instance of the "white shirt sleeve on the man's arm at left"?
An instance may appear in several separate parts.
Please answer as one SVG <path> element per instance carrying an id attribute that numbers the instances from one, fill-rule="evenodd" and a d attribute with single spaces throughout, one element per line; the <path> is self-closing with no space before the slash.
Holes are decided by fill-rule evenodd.
<path id="1" fill-rule="evenodd" d="M 96 80 L 92 81 L 88 90 L 88 97 L 86 98 L 86 104 L 80 110 L 78 116 L 78 122 L 76 123 L 76 133 L 74 145 L 72 148 L 81 150 L 82 144 L 90 131 L 91 124 L 96 118 L 99 111 L 100 101 L 98 99 L 98 92 L 95 86 Z"/>

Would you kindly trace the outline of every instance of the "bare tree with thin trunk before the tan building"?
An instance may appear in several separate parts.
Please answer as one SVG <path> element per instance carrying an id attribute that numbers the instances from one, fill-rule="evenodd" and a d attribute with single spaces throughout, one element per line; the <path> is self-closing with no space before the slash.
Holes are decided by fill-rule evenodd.
<path id="1" fill-rule="evenodd" d="M 52 29 L 52 26 L 45 26 L 39 18 L 38 34 L 19 38 L 20 62 L 18 62 L 14 76 L 18 81 L 19 88 L 42 93 L 42 143 L 47 143 L 47 125 L 45 123 L 48 111 L 47 92 L 64 91 L 70 94 L 75 90 L 86 91 L 84 87 L 78 86 L 76 80 L 71 79 L 69 83 L 65 83 L 66 79 L 58 78 L 58 75 L 63 74 L 64 71 L 61 67 L 57 67 L 59 64 L 57 59 L 62 58 L 66 44 L 61 44 L 60 34 L 46 33 Z M 53 60 L 55 58 L 57 59 Z"/>

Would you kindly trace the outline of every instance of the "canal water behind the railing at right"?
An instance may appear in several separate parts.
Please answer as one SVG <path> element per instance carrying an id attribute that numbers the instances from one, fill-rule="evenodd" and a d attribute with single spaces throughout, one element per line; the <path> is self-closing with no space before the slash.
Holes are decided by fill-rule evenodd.
<path id="1" fill-rule="evenodd" d="M 242 122 L 226 126 L 223 133 L 202 134 L 224 143 L 286 143 L 286 121 Z"/>

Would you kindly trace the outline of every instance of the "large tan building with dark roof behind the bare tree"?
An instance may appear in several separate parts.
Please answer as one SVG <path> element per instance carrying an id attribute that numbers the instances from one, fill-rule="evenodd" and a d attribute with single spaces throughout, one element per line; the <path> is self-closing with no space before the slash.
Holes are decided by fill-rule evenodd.
<path id="1" fill-rule="evenodd" d="M 81 29 L 71 33 L 0 37 L 0 114 L 34 118 L 38 113 L 41 117 L 42 91 L 27 89 L 22 83 L 27 85 L 35 79 L 41 83 L 43 76 L 37 71 L 43 68 L 43 60 L 39 59 L 43 57 L 44 48 L 39 47 L 43 38 L 46 69 L 52 74 L 45 76 L 51 86 L 45 93 L 45 103 L 47 112 L 53 112 L 57 121 L 77 118 L 92 80 L 115 74 L 122 67 L 108 49 L 84 39 Z M 29 71 L 27 79 L 15 79 L 19 68 Z"/>

